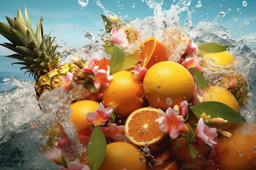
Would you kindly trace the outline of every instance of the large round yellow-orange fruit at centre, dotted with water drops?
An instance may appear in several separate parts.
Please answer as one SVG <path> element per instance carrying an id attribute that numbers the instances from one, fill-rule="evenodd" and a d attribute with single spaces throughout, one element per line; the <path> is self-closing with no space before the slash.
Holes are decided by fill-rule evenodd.
<path id="1" fill-rule="evenodd" d="M 177 62 L 164 61 L 151 66 L 143 80 L 143 88 L 150 106 L 166 110 L 193 95 L 191 73 Z"/>

